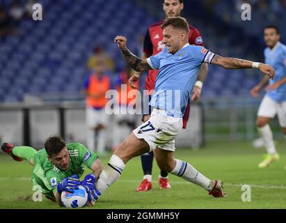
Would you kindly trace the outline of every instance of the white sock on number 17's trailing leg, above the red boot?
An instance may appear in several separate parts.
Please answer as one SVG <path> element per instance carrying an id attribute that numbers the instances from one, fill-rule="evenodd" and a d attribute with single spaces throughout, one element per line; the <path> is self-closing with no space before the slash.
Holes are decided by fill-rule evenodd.
<path id="1" fill-rule="evenodd" d="M 191 164 L 182 160 L 176 160 L 176 166 L 170 174 L 180 176 L 191 183 L 205 188 L 207 191 L 212 190 L 212 187 L 209 184 L 211 180 L 200 174 L 200 172 L 193 168 Z"/>

